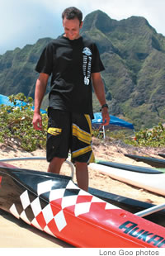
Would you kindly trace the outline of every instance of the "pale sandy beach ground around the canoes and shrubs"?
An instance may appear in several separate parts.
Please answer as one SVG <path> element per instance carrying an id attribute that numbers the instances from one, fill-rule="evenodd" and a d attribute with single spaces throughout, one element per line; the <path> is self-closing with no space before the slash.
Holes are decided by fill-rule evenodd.
<path id="1" fill-rule="evenodd" d="M 93 140 L 93 150 L 96 159 L 106 159 L 112 162 L 133 164 L 144 167 L 151 167 L 142 162 L 135 162 L 133 159 L 128 159 L 124 154 L 141 154 L 149 155 L 158 158 L 158 153 L 164 153 L 163 149 L 134 149 L 131 146 L 125 147 L 118 143 L 100 143 L 99 140 Z M 136 151 L 135 151 L 136 150 Z M 37 149 L 32 153 L 18 149 L 16 145 L 0 144 L 0 159 L 23 158 L 23 157 L 45 157 L 45 150 Z M 48 163 L 40 160 L 35 161 L 16 161 L 10 162 L 19 168 L 29 168 L 33 170 L 46 171 Z M 68 164 L 64 164 L 61 173 L 71 175 L 71 169 Z M 75 178 L 73 181 L 76 183 Z M 106 175 L 93 171 L 89 168 L 89 186 L 106 192 L 115 193 L 117 195 L 130 197 L 139 201 L 146 201 L 153 204 L 162 204 L 165 202 L 165 197 L 148 192 L 139 187 L 130 186 L 126 183 L 121 183 Z M 45 234 L 34 227 L 27 225 L 22 220 L 17 220 L 9 213 L 0 210 L 0 248 L 69 248 L 73 247 L 59 239 Z"/>

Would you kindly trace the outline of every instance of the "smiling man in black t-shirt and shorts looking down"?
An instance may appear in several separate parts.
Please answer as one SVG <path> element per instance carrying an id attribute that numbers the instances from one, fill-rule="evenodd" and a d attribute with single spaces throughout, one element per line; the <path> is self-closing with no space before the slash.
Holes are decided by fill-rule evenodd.
<path id="1" fill-rule="evenodd" d="M 78 187 L 87 191 L 87 164 L 94 161 L 92 86 L 101 104 L 104 125 L 110 121 L 100 74 L 104 67 L 97 45 L 80 36 L 82 12 L 68 7 L 62 18 L 64 35 L 45 47 L 35 68 L 40 75 L 35 84 L 33 126 L 35 130 L 42 129 L 40 106 L 51 75 L 46 144 L 48 172 L 59 173 L 71 150 Z"/>

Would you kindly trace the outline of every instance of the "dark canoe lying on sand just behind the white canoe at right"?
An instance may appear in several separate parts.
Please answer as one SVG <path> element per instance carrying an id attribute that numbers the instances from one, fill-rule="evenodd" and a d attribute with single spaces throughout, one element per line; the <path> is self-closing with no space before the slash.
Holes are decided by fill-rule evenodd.
<path id="1" fill-rule="evenodd" d="M 165 160 L 164 159 L 156 159 L 145 156 L 140 156 L 136 154 L 125 154 L 126 157 L 130 159 L 134 159 L 137 162 L 144 162 L 149 164 L 155 168 L 165 168 Z"/>

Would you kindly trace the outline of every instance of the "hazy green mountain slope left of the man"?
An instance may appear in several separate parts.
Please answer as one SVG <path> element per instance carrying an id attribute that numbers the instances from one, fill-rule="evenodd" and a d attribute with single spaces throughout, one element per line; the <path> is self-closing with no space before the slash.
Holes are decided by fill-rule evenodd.
<path id="1" fill-rule="evenodd" d="M 0 93 L 4 95 L 24 92 L 34 97 L 35 80 L 38 74 L 35 65 L 45 45 L 52 40 L 40 39 L 35 45 L 26 45 L 23 49 L 7 51 L 0 56 Z"/>

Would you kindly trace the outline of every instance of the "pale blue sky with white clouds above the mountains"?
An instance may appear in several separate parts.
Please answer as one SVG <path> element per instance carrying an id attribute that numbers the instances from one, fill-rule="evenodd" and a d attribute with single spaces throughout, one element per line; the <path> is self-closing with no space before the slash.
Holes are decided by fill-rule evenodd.
<path id="1" fill-rule="evenodd" d="M 164 0 L 1 0 L 0 55 L 43 37 L 59 36 L 63 32 L 61 12 L 70 6 L 81 9 L 83 17 L 98 9 L 118 21 L 145 17 L 165 36 Z"/>

